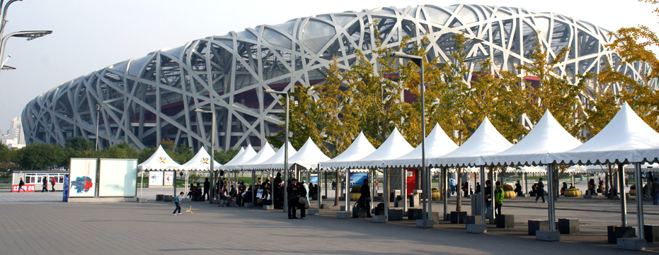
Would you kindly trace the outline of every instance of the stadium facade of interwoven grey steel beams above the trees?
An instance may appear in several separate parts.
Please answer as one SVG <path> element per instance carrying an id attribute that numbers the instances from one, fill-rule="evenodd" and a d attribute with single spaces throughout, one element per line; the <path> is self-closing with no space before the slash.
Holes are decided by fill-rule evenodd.
<path id="1" fill-rule="evenodd" d="M 419 44 L 427 36 L 427 57 L 442 62 L 449 61 L 453 35 L 464 32 L 470 40 L 467 57 L 491 57 L 498 70 L 529 62 L 539 38 L 553 55 L 570 47 L 558 75 L 597 73 L 607 64 L 634 78 L 646 71 L 621 64 L 607 49 L 609 30 L 560 14 L 462 4 L 329 13 L 194 40 L 59 85 L 23 110 L 26 140 L 64 145 L 73 136 L 94 139 L 98 128 L 101 147 L 128 142 L 142 149 L 165 138 L 198 148 L 210 144 L 211 117 L 195 109 L 212 108 L 217 149 L 247 143 L 259 148 L 280 130 L 282 112 L 278 95 L 264 91 L 322 83 L 334 56 L 343 69 L 355 61 L 355 50 L 369 56 L 374 26 L 385 47 L 398 47 L 406 36 L 410 46 Z M 472 70 L 479 68 L 476 62 Z M 589 93 L 618 89 L 593 87 Z"/>

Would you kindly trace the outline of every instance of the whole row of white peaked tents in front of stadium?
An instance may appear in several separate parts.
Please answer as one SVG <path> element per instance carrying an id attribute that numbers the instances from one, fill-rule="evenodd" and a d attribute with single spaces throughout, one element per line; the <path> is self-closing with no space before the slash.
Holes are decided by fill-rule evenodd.
<path id="1" fill-rule="evenodd" d="M 476 167 L 480 170 L 481 183 L 485 182 L 486 167 L 544 166 L 549 170 L 547 171 L 549 179 L 553 179 L 551 170 L 556 165 L 613 164 L 619 167 L 620 179 L 624 178 L 623 164 L 628 163 L 634 164 L 638 180 L 640 179 L 641 164 L 659 162 L 659 134 L 638 117 L 626 103 L 599 134 L 585 143 L 581 143 L 563 129 L 563 126 L 558 124 L 549 111 L 529 131 L 529 134 L 515 145 L 505 139 L 487 118 L 462 146 L 457 146 L 439 125 L 435 125 L 425 141 L 427 144 L 425 146 L 426 160 L 423 165 L 442 170 L 454 167 Z M 289 147 L 289 162 L 291 166 L 300 166 L 306 170 L 343 169 L 350 172 L 351 169 L 380 169 L 386 172 L 388 168 L 420 167 L 422 165 L 422 146 L 423 144 L 413 148 L 405 141 L 400 132 L 394 129 L 382 146 L 375 149 L 364 134 L 360 133 L 343 153 L 330 159 L 309 139 L 299 151 Z M 220 166 L 216 163 L 218 166 L 216 170 L 283 170 L 284 150 L 282 148 L 275 153 L 273 148 L 266 143 L 256 153 L 251 146 L 248 146 L 227 164 Z M 156 154 L 158 153 L 164 153 L 164 150 L 159 148 L 156 151 Z M 179 166 L 171 159 L 170 162 L 163 160 L 163 157 L 168 158 L 166 153 L 164 155 L 156 154 L 142 163 L 139 166 L 140 169 L 171 170 L 184 169 L 176 167 L 200 167 L 195 159 Z M 197 156 L 199 155 L 203 158 L 207 153 L 201 149 L 197 153 Z M 199 158 L 196 160 L 199 161 Z M 189 169 L 193 170 L 193 168 Z M 208 170 L 208 168 L 195 170 Z M 429 173 L 430 171 L 424 174 Z M 553 190 L 552 182 L 549 182 L 549 190 Z M 640 195 L 640 193 L 637 194 Z M 554 203 L 551 199 L 551 192 L 549 194 L 549 220 L 555 220 Z M 388 194 L 385 192 L 384 196 L 386 195 Z M 624 206 L 623 196 L 622 224 L 626 225 L 626 207 Z M 642 203 L 637 203 L 637 210 L 640 212 L 638 213 L 638 224 L 642 226 Z M 385 209 L 384 212 L 387 213 L 388 210 Z M 485 224 L 484 217 L 482 220 L 482 224 Z M 554 230 L 554 225 L 549 225 L 551 230 Z M 643 227 L 638 227 L 638 231 L 639 236 L 643 237 Z"/>

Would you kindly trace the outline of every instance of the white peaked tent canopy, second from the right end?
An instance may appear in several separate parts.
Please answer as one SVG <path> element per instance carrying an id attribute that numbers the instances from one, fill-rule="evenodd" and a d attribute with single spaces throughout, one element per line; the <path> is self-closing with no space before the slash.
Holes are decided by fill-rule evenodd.
<path id="1" fill-rule="evenodd" d="M 546 110 L 522 141 L 500 153 L 484 155 L 483 162 L 484 165 L 546 165 L 548 153 L 571 150 L 581 144 Z"/>

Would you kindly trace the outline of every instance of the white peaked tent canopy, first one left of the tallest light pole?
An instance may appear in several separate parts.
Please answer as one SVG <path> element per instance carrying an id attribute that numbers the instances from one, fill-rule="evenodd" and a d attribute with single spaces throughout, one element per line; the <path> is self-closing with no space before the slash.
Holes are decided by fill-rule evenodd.
<path id="1" fill-rule="evenodd" d="M 397 128 L 394 128 L 394 131 L 391 131 L 391 134 L 389 134 L 389 137 L 384 140 L 384 143 L 382 143 L 382 145 L 373 153 L 360 160 L 345 162 L 343 166 L 345 168 L 384 167 L 384 160 L 400 158 L 413 149 L 414 148 L 410 145 L 410 143 L 405 141 L 405 138 L 403 135 L 401 135 L 401 132 L 399 132 Z"/>

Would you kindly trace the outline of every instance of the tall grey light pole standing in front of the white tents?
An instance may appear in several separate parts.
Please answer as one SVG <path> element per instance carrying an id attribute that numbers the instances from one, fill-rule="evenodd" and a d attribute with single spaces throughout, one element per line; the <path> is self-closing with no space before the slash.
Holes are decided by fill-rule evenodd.
<path id="1" fill-rule="evenodd" d="M 423 218 L 424 220 L 430 220 L 430 214 L 432 213 L 432 207 L 430 203 L 430 171 L 425 166 L 425 84 L 423 83 L 423 57 L 413 56 L 404 54 L 403 52 L 394 52 L 391 54 L 391 57 L 397 57 L 400 59 L 408 59 L 413 61 L 414 64 L 420 67 L 420 76 L 421 76 L 421 174 L 425 177 L 425 182 L 423 182 L 423 198 L 425 202 L 423 203 Z M 426 223 L 423 223 L 425 228 Z"/>

